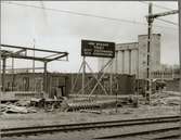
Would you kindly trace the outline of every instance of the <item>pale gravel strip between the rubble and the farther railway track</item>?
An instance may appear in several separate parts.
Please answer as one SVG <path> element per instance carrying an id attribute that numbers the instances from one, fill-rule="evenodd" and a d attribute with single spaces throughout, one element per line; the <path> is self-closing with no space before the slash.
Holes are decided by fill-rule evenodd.
<path id="1" fill-rule="evenodd" d="M 167 115 L 179 115 L 179 114 L 180 114 L 180 106 L 176 105 L 174 106 L 141 105 L 138 109 L 125 106 L 125 107 L 119 107 L 117 113 L 115 112 L 115 109 L 109 109 L 109 110 L 103 110 L 102 114 L 79 113 L 79 112 L 67 112 L 67 113 L 38 112 L 33 114 L 3 114 L 0 115 L 1 117 L 0 128 L 128 119 L 128 118 L 167 116 Z"/>

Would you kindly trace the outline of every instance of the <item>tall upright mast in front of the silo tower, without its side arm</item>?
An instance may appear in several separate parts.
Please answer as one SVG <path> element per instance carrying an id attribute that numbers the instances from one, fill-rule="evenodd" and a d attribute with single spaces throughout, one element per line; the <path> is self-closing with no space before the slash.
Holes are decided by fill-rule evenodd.
<path id="1" fill-rule="evenodd" d="M 148 93 L 146 93 L 146 100 L 151 101 L 151 92 L 152 92 L 152 82 L 151 82 L 151 77 L 150 77 L 150 72 L 151 72 L 151 40 L 152 40 L 152 25 L 153 25 L 153 21 L 154 18 L 151 17 L 152 15 L 152 9 L 153 5 L 152 3 L 148 4 L 148 17 L 147 17 L 147 24 L 148 24 L 148 28 L 147 28 L 147 67 L 146 67 L 146 78 L 147 78 L 147 91 Z"/>

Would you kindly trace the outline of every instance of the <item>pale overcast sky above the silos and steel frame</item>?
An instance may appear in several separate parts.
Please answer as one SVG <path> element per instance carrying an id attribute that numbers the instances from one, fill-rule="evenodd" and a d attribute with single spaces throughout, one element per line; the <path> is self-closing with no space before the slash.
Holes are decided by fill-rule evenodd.
<path id="1" fill-rule="evenodd" d="M 153 12 L 177 10 L 177 2 L 153 2 Z M 11 1 L 1 3 L 1 42 L 67 51 L 68 62 L 52 62 L 49 71 L 77 72 L 81 39 L 135 42 L 146 34 L 147 2 L 124 1 Z M 161 34 L 161 63 L 179 64 L 178 14 L 154 22 Z M 169 22 L 169 23 L 168 23 Z M 96 71 L 96 59 L 88 62 Z M 16 67 L 30 67 L 16 62 Z M 40 66 L 40 63 L 36 63 Z"/>

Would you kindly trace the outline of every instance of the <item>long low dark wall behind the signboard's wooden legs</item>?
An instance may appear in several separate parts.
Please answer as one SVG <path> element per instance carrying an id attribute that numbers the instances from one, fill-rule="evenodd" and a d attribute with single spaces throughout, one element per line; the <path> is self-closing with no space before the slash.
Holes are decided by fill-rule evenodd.
<path id="1" fill-rule="evenodd" d="M 99 75 L 99 74 L 94 74 Z M 86 74 L 86 82 L 90 81 L 93 76 L 92 74 Z M 113 90 L 109 91 L 111 87 L 111 75 L 106 74 L 102 79 L 102 85 L 108 92 L 108 96 L 116 94 L 133 94 L 134 93 L 134 76 L 130 75 L 113 75 L 112 77 Z M 116 79 L 116 80 L 115 80 Z M 69 74 L 69 73 L 48 73 L 48 93 L 47 97 L 53 98 L 56 92 L 59 97 L 68 97 L 69 94 L 81 93 L 81 74 Z M 93 79 L 92 82 L 86 88 L 86 94 L 89 94 L 91 89 L 93 89 L 96 80 Z M 75 85 L 75 86 L 74 86 Z M 74 90 L 73 90 L 73 87 Z M 117 88 L 116 88 L 117 87 Z M 31 91 L 31 92 L 43 92 L 43 73 L 18 73 L 18 74 L 5 74 L 4 82 L 5 91 Z M 100 86 L 96 87 L 95 94 L 104 94 Z"/>

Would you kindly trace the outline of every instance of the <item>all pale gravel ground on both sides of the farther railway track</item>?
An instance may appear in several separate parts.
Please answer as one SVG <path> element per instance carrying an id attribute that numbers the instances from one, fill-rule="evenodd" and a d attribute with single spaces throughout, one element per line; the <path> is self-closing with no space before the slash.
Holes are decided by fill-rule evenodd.
<path id="1" fill-rule="evenodd" d="M 131 118 L 145 118 L 156 116 L 170 116 L 180 115 L 180 105 L 157 105 L 148 106 L 140 104 L 139 107 L 122 106 L 118 107 L 118 112 L 115 109 L 102 110 L 101 114 L 94 113 L 80 113 L 80 112 L 49 112 L 38 111 L 37 113 L 29 114 L 1 114 L 0 115 L 0 128 L 10 127 L 25 127 L 25 126 L 41 126 L 41 125 L 55 125 L 55 124 L 74 124 L 74 123 L 86 123 L 86 122 L 102 122 L 102 120 L 115 120 L 115 119 L 131 119 Z M 147 125 L 147 126 L 133 126 L 133 127 L 121 127 L 121 128 L 106 128 L 106 129 L 91 129 L 85 131 L 73 131 L 73 132 L 56 132 L 56 133 L 44 133 L 39 136 L 28 137 L 13 137 L 13 139 L 61 139 L 61 140 L 89 140 L 95 137 L 114 135 L 120 132 L 130 132 L 134 130 L 148 130 L 153 128 L 167 127 L 171 125 L 179 125 L 170 123 L 169 125 Z M 152 136 L 151 136 L 152 137 Z M 126 140 L 146 140 L 146 137 L 127 138 Z"/>

